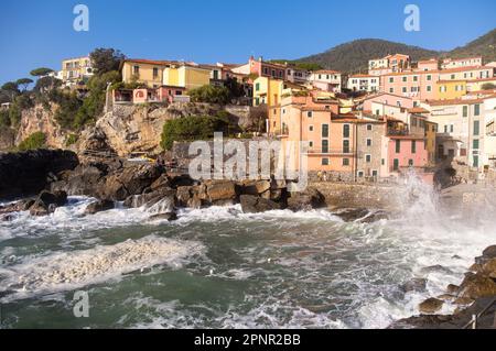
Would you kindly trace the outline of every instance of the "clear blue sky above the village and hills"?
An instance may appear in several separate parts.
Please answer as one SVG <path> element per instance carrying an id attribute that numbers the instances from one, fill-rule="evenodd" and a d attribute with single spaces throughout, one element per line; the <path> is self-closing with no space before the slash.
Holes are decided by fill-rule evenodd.
<path id="1" fill-rule="evenodd" d="M 73 30 L 78 3 L 89 8 L 89 32 Z M 420 32 L 403 29 L 408 3 L 420 8 Z M 451 50 L 496 28 L 495 13 L 495 0 L 8 0 L 0 84 L 95 47 L 198 63 L 298 58 L 363 37 Z"/>

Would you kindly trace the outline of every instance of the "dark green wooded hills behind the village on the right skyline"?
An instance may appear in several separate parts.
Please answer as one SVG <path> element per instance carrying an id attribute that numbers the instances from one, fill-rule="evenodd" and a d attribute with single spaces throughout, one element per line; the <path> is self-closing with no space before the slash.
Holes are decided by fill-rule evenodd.
<path id="1" fill-rule="evenodd" d="M 378 39 L 362 39 L 337 45 L 321 54 L 300 58 L 296 62 L 317 64 L 327 69 L 356 74 L 367 73 L 369 59 L 397 53 L 410 55 L 412 61 L 482 55 L 486 62 L 492 62 L 496 61 L 496 29 L 465 46 L 450 52 L 427 50 Z"/>

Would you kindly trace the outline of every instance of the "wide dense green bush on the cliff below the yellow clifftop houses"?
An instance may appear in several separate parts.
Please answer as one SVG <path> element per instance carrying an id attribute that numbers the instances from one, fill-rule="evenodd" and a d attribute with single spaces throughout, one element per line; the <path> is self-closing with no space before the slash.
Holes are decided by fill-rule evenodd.
<path id="1" fill-rule="evenodd" d="M 229 122 L 217 116 L 190 116 L 169 120 L 163 125 L 161 146 L 171 150 L 174 141 L 209 140 L 214 132 L 227 132 Z"/>

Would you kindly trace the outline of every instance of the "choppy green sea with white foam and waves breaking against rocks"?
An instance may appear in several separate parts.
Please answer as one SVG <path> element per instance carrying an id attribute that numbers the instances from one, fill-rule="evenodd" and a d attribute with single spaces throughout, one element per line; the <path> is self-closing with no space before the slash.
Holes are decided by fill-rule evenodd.
<path id="1" fill-rule="evenodd" d="M 495 238 L 490 221 L 425 204 L 371 224 L 239 206 L 169 223 L 145 209 L 83 216 L 89 201 L 0 222 L 2 328 L 385 328 L 460 283 Z M 451 273 L 422 273 L 432 265 Z M 419 276 L 425 292 L 400 289 Z M 78 290 L 88 318 L 74 317 Z"/>

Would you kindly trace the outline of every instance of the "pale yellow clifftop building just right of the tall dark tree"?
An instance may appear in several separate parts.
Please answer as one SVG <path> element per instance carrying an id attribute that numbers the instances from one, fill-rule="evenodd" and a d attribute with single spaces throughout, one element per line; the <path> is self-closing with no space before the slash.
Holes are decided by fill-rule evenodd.
<path id="1" fill-rule="evenodd" d="M 121 64 L 123 83 L 142 83 L 150 88 L 162 86 L 163 72 L 173 63 L 168 61 L 126 59 Z"/>

